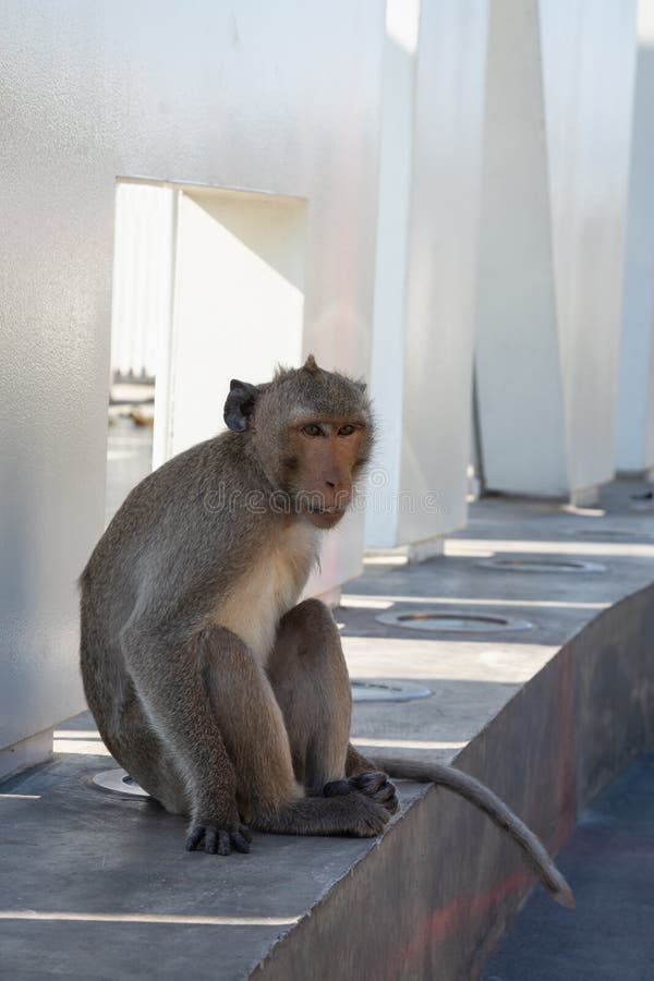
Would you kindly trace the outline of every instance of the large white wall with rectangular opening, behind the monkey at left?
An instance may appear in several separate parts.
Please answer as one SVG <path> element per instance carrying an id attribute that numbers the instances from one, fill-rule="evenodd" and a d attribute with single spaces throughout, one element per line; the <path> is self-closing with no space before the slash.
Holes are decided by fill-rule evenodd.
<path id="1" fill-rule="evenodd" d="M 383 4 L 181 11 L 3 4 L 0 747 L 82 705 L 74 582 L 102 530 L 116 179 L 306 199 L 303 353 L 367 372 Z M 359 518 L 335 580 L 361 540 Z"/>

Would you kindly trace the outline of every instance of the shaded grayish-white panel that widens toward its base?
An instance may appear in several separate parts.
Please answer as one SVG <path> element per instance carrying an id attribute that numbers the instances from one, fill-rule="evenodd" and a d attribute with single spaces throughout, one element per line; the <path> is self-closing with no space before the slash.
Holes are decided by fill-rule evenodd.
<path id="1" fill-rule="evenodd" d="M 565 494 L 536 0 L 493 2 L 477 296 L 477 393 L 491 489 Z"/>

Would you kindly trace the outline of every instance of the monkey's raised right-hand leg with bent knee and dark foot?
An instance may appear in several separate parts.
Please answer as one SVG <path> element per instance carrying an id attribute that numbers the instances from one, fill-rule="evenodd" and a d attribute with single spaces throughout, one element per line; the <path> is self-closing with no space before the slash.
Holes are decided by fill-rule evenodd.
<path id="1" fill-rule="evenodd" d="M 358 770 L 348 765 L 350 679 L 324 603 L 305 600 L 282 618 L 267 673 L 283 713 L 295 776 L 307 791 L 334 797 L 359 790 L 395 813 L 399 804 L 386 775 L 363 756 Z"/>

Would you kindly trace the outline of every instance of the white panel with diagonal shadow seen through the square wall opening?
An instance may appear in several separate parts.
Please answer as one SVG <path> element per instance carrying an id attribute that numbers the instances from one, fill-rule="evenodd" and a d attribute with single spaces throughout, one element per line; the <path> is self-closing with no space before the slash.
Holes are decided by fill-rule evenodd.
<path id="1" fill-rule="evenodd" d="M 169 456 L 225 428 L 231 378 L 256 385 L 300 363 L 305 235 L 304 202 L 182 194 Z"/>

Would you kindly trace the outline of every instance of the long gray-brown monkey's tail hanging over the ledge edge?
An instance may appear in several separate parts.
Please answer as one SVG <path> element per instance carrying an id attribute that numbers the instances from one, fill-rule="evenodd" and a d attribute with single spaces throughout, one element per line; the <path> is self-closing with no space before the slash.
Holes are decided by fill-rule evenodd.
<path id="1" fill-rule="evenodd" d="M 480 780 L 463 773 L 462 770 L 443 763 L 417 763 L 387 756 L 375 756 L 372 762 L 390 777 L 447 787 L 448 790 L 453 790 L 455 794 L 459 794 L 484 811 L 491 821 L 501 831 L 507 832 L 522 849 L 526 864 L 541 879 L 552 898 L 568 909 L 574 909 L 572 889 L 547 853 L 543 843 L 493 790 Z"/>

